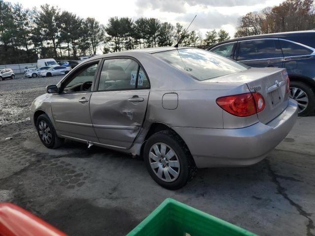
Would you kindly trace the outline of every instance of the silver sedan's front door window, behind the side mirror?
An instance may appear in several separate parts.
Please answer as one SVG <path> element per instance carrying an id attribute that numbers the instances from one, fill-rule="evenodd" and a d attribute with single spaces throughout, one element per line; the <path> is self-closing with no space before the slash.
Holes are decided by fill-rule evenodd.
<path id="1" fill-rule="evenodd" d="M 63 93 L 91 91 L 98 61 L 83 66 L 63 83 Z"/>

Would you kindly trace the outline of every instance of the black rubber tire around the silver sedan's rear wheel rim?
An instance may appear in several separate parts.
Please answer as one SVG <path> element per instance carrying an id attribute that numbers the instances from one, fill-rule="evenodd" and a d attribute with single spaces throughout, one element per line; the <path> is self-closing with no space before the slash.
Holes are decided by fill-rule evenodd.
<path id="1" fill-rule="evenodd" d="M 179 163 L 180 171 L 178 177 L 171 182 L 163 181 L 160 179 L 155 170 L 150 166 L 150 149 L 157 143 L 164 143 L 174 150 Z M 182 188 L 190 181 L 197 173 L 197 167 L 190 154 L 190 151 L 185 142 L 173 131 L 162 130 L 153 134 L 146 142 L 143 152 L 144 162 L 150 176 L 162 187 L 170 190 Z"/>

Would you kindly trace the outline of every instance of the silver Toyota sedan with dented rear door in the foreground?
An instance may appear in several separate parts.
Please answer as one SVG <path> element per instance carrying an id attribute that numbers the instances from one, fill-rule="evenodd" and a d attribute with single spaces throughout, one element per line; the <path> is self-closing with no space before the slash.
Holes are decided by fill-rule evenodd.
<path id="1" fill-rule="evenodd" d="M 183 187 L 197 168 L 261 161 L 297 117 L 282 68 L 251 68 L 194 48 L 86 60 L 32 103 L 42 143 L 63 139 L 142 156 L 151 177 Z"/>

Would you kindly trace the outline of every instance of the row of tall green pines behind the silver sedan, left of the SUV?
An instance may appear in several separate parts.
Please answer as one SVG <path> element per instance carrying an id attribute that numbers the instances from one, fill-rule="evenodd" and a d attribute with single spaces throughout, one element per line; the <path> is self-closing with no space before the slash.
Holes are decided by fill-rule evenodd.
<path id="1" fill-rule="evenodd" d="M 38 58 L 78 59 L 96 53 L 171 46 L 208 47 L 228 39 L 215 30 L 203 38 L 200 31 L 185 30 L 157 18 L 111 17 L 106 25 L 49 4 L 27 9 L 0 0 L 0 64 L 34 62 Z"/>

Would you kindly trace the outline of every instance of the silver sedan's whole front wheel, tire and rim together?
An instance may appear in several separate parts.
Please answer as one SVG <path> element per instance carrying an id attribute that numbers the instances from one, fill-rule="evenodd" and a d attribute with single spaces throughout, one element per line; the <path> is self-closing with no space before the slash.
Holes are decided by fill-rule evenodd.
<path id="1" fill-rule="evenodd" d="M 36 128 L 40 141 L 47 148 L 59 148 L 62 145 L 63 139 L 57 136 L 56 130 L 46 114 L 37 118 Z"/>

